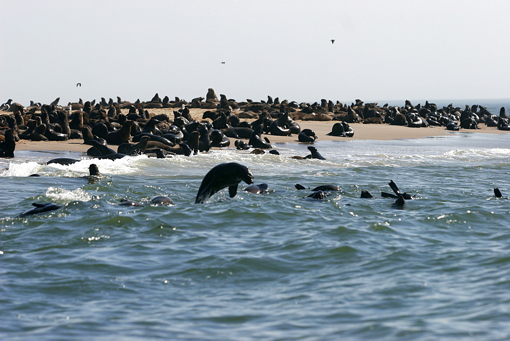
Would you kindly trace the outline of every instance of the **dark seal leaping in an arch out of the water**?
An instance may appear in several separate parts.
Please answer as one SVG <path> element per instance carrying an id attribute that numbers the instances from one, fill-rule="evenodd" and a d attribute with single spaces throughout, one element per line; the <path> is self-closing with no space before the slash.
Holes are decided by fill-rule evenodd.
<path id="1" fill-rule="evenodd" d="M 245 165 L 228 162 L 214 166 L 203 178 L 196 194 L 195 204 L 202 204 L 214 193 L 226 187 L 228 187 L 229 196 L 234 198 L 241 181 L 248 185 L 253 183 L 253 174 Z"/>

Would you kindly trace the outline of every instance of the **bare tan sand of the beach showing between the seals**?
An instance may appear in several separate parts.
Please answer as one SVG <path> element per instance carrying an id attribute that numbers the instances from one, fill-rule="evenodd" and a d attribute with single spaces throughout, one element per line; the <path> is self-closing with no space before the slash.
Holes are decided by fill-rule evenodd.
<path id="1" fill-rule="evenodd" d="M 167 114 L 170 119 L 173 118 L 174 109 L 149 109 L 148 112 L 151 115 L 158 115 L 161 113 Z M 190 113 L 192 117 L 198 121 L 210 119 L 202 119 L 203 112 L 206 109 L 191 109 Z M 126 112 L 123 109 L 122 112 Z M 254 119 L 243 119 L 246 121 L 253 121 Z M 338 121 L 303 121 L 296 120 L 301 126 L 301 129 L 312 129 L 318 136 L 317 141 L 350 141 L 350 140 L 394 140 L 394 139 L 408 139 L 408 138 L 422 138 L 426 136 L 444 136 L 454 134 L 446 130 L 444 127 L 428 127 L 428 128 L 410 128 L 402 126 L 391 126 L 387 124 L 361 124 L 354 123 L 350 124 L 354 130 L 353 137 L 338 137 L 326 135 L 331 131 L 331 127 Z M 479 126 L 481 129 L 461 129 L 463 133 L 487 133 L 487 134 L 504 134 L 504 131 L 498 130 L 497 128 L 486 127 L 484 125 Z M 275 136 L 275 135 L 264 135 L 269 138 L 271 142 L 287 142 L 287 143 L 298 143 L 297 135 L 292 136 Z M 231 139 L 231 147 L 234 139 Z M 16 143 L 17 151 L 69 151 L 69 152 L 86 152 L 90 148 L 90 145 L 83 144 L 83 140 L 74 139 L 67 141 L 29 141 L 20 140 Z M 110 148 L 116 150 L 117 146 L 111 145 Z"/>

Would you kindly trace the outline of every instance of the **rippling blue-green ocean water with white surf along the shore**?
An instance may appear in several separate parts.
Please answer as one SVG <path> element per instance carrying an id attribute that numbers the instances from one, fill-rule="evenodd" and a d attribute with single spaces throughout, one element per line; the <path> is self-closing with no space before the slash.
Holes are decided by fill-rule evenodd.
<path id="1" fill-rule="evenodd" d="M 0 338 L 509 338 L 510 199 L 493 193 L 510 197 L 509 139 L 316 142 L 327 160 L 288 158 L 301 143 L 70 166 L 16 152 L 0 160 Z M 222 162 L 272 191 L 194 204 Z M 394 207 L 390 180 L 417 199 Z M 148 205 L 159 194 L 175 205 Z M 33 202 L 62 208 L 17 217 Z"/>

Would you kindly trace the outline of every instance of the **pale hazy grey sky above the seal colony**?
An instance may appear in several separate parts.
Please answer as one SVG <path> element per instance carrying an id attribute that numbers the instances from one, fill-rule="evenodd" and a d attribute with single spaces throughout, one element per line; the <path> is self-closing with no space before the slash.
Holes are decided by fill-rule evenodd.
<path id="1" fill-rule="evenodd" d="M 0 103 L 510 98 L 510 1 L 0 0 L 0 15 Z"/>

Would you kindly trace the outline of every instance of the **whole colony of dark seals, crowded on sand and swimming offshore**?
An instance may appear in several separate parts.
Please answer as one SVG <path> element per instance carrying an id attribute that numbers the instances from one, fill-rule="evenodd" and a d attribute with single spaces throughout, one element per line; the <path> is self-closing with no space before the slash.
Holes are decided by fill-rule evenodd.
<path id="1" fill-rule="evenodd" d="M 252 149 L 253 154 L 269 153 L 279 155 L 271 144 L 269 137 L 297 135 L 303 143 L 314 143 L 317 136 L 311 129 L 301 129 L 301 124 L 309 120 L 338 120 L 327 135 L 352 137 L 353 129 L 349 123 L 390 124 L 423 128 L 442 126 L 447 130 L 478 129 L 479 124 L 495 127 L 498 130 L 510 131 L 510 124 L 505 109 L 501 108 L 499 116 L 490 113 L 481 105 L 466 105 L 464 109 L 448 105 L 438 108 L 436 104 L 426 102 L 424 105 L 413 105 L 405 101 L 402 107 L 378 106 L 377 103 L 364 103 L 356 100 L 350 105 L 339 101 L 322 99 L 313 104 L 295 101 L 280 101 L 268 96 L 267 100 L 254 102 L 247 99 L 238 102 L 227 99 L 220 94 L 218 100 L 214 89 L 207 91 L 206 97 L 198 97 L 190 102 L 168 96 L 161 99 L 155 96 L 146 102 L 117 101 L 101 98 L 96 103 L 82 101 L 59 105 L 57 98 L 50 104 L 34 103 L 24 107 L 12 100 L 0 106 L 0 157 L 12 158 L 16 142 L 20 139 L 32 141 L 66 141 L 81 139 L 91 147 L 87 155 L 94 158 L 116 160 L 125 156 L 145 154 L 149 157 L 166 158 L 172 155 L 192 156 L 201 152 L 209 152 L 212 148 L 236 147 L 238 150 Z M 167 114 L 155 114 L 150 109 L 174 108 L 173 117 Z M 194 119 L 190 109 L 200 108 L 201 119 Z M 243 120 L 248 119 L 248 120 Z M 297 123 L 300 121 L 301 124 Z M 263 136 L 266 134 L 267 136 Z M 234 143 L 231 142 L 234 138 Z M 111 148 L 117 146 L 116 150 Z M 311 154 L 293 156 L 296 159 L 325 158 L 312 145 L 308 146 Z M 78 162 L 78 159 L 58 158 L 48 164 L 63 165 Z M 240 181 L 250 184 L 249 192 L 261 193 L 267 190 L 267 184 L 253 185 L 253 176 L 249 169 L 242 165 L 221 164 L 211 169 L 200 185 L 195 203 L 203 203 L 217 191 L 228 187 L 231 197 L 235 196 Z M 225 168 L 226 167 L 226 168 Z M 224 169 L 231 171 L 228 179 L 224 178 Z M 230 174 L 226 172 L 226 174 Z M 97 168 L 90 169 L 90 176 L 98 176 Z M 33 175 L 37 176 L 37 174 Z M 413 199 L 409 194 L 400 193 L 391 181 L 390 187 L 395 194 L 382 192 L 382 197 L 397 199 L 395 204 L 403 206 L 405 200 Z M 496 193 L 496 191 L 495 191 Z M 497 196 L 497 195 L 496 195 Z M 324 199 L 327 191 L 314 191 L 309 198 Z M 367 191 L 362 192 L 363 198 L 371 198 Z M 169 203 L 171 200 L 162 199 Z M 156 200 L 158 202 L 158 200 Z M 120 205 L 134 205 L 124 202 Z M 39 206 L 35 213 L 53 209 Z M 27 214 L 27 213 L 25 213 Z"/>

